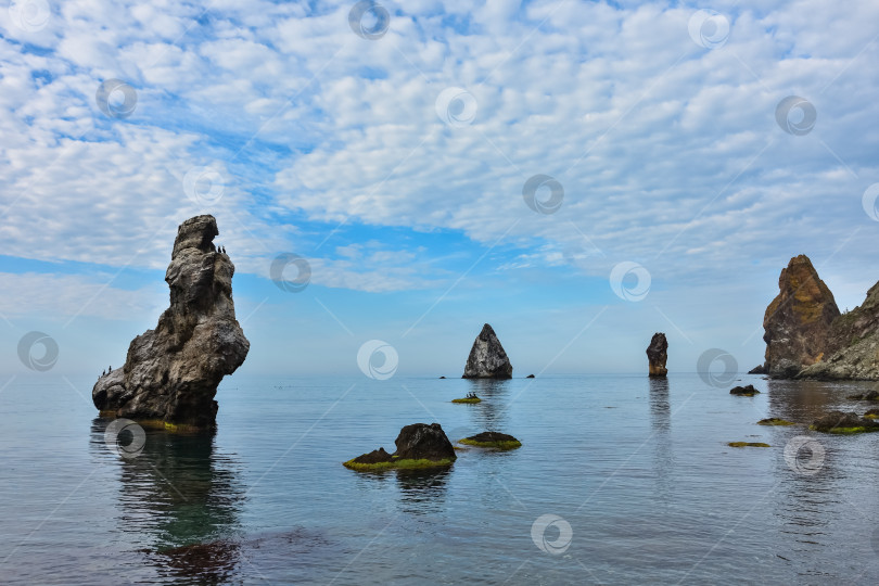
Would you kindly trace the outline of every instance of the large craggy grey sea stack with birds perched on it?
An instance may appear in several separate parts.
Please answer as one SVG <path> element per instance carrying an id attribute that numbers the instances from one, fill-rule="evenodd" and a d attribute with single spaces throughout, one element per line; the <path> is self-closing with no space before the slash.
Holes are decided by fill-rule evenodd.
<path id="1" fill-rule="evenodd" d="M 165 272 L 170 306 L 155 330 L 131 341 L 125 366 L 98 379 L 91 396 L 102 416 L 214 426 L 217 385 L 251 346 L 235 319 L 234 265 L 213 244 L 218 233 L 209 215 L 177 229 Z"/>

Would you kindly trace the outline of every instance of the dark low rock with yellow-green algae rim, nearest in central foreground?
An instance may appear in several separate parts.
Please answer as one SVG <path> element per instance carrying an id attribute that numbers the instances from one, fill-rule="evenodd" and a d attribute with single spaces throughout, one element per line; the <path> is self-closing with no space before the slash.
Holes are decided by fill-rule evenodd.
<path id="1" fill-rule="evenodd" d="M 396 451 L 387 454 L 383 447 L 364 454 L 344 463 L 358 471 L 405 468 L 434 468 L 449 466 L 458 456 L 440 423 L 412 423 L 399 431 Z"/>

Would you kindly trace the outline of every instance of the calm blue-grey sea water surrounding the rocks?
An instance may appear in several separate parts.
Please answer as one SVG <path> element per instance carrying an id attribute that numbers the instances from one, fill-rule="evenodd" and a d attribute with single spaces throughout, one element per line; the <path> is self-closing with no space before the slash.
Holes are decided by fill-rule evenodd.
<path id="1" fill-rule="evenodd" d="M 233 377 L 215 435 L 148 430 L 123 458 L 92 381 L 44 374 L 0 393 L 0 583 L 879 583 L 879 434 L 755 424 L 863 411 L 844 396 L 867 384 Z M 449 403 L 470 390 L 482 404 Z M 341 466 L 433 421 L 523 446 Z"/>

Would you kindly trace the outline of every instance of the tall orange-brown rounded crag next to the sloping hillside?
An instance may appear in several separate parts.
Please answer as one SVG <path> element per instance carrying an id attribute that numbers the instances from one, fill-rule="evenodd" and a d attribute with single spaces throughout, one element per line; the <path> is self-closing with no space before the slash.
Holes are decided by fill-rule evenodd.
<path id="1" fill-rule="evenodd" d="M 840 311 L 805 255 L 791 258 L 778 288 L 763 318 L 765 369 L 772 377 L 790 378 L 825 357 L 830 326 Z"/>

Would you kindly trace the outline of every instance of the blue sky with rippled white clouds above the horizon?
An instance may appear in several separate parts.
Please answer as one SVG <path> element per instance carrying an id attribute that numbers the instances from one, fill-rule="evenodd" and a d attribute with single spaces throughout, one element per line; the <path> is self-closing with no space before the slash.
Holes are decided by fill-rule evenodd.
<path id="1" fill-rule="evenodd" d="M 748 370 L 791 257 L 879 280 L 877 94 L 869 0 L 15 0 L 0 372 L 122 366 L 199 214 L 242 374 Z"/>

